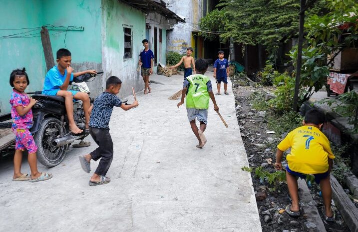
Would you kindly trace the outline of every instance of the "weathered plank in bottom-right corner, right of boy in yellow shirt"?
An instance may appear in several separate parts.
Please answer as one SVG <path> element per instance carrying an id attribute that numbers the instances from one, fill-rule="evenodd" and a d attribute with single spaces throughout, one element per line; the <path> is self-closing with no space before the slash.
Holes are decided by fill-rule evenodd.
<path id="1" fill-rule="evenodd" d="M 351 232 L 358 232 L 358 209 L 337 179 L 331 175 L 332 198 Z"/>

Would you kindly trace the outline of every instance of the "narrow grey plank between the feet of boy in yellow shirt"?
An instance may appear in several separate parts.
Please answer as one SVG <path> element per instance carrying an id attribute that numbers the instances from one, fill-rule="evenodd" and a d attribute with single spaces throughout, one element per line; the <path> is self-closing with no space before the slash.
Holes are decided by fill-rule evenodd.
<path id="1" fill-rule="evenodd" d="M 317 204 L 313 200 L 312 195 L 310 193 L 310 190 L 307 187 L 306 181 L 304 179 L 299 179 L 297 181 L 298 187 L 299 187 L 299 197 L 301 206 L 307 215 L 307 222 L 311 222 L 316 224 L 317 228 L 315 230 L 319 232 L 327 232 L 325 225 L 323 224 L 323 221 L 320 217 L 320 214 L 318 213 Z"/>

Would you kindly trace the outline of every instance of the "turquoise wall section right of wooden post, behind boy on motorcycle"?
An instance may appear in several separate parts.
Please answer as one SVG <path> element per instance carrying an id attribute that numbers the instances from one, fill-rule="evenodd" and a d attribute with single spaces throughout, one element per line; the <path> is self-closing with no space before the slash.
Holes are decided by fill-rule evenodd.
<path id="1" fill-rule="evenodd" d="M 45 0 L 43 8 L 44 24 L 84 27 L 83 31 L 51 31 L 54 56 L 59 48 L 67 48 L 73 63 L 102 62 L 101 0 Z"/>

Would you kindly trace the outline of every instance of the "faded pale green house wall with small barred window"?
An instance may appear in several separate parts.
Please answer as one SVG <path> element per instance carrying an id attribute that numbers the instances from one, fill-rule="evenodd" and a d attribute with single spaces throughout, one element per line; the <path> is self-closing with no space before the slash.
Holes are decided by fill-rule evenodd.
<path id="1" fill-rule="evenodd" d="M 132 58 L 124 59 L 123 27 L 132 29 Z M 143 89 L 144 83 L 136 71 L 142 40 L 145 38 L 145 14 L 118 0 L 102 0 L 102 49 L 103 49 L 103 88 L 105 80 L 112 75 L 118 76 L 123 84 L 119 96 Z"/>

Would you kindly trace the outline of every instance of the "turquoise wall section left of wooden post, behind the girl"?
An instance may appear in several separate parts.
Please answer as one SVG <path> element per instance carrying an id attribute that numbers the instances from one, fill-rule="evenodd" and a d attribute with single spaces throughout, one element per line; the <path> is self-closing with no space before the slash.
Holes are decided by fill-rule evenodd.
<path id="1" fill-rule="evenodd" d="M 24 36 L 0 38 L 0 114 L 10 112 L 11 86 L 8 81 L 13 69 L 22 67 L 27 69 L 30 85 L 26 91 L 42 89 L 46 66 L 39 37 L 40 29 L 8 29 L 41 26 L 41 2 L 41 0 L 0 0 L 0 36 L 16 33 L 21 34 L 14 36 Z"/>

